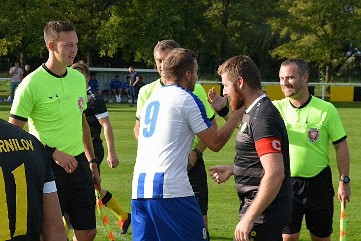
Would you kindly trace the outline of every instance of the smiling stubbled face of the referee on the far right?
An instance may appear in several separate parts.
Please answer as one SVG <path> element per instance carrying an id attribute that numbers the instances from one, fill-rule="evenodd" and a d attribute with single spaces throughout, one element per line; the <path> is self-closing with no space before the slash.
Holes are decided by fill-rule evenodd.
<path id="1" fill-rule="evenodd" d="M 307 88 L 307 73 L 300 75 L 296 64 L 281 66 L 279 80 L 285 97 L 298 99 Z"/>

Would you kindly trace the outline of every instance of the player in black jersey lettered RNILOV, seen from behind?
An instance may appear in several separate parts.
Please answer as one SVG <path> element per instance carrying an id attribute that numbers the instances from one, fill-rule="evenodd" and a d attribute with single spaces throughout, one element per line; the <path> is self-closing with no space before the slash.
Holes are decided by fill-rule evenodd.
<path id="1" fill-rule="evenodd" d="M 66 240 L 48 153 L 0 119 L 0 241 Z"/>

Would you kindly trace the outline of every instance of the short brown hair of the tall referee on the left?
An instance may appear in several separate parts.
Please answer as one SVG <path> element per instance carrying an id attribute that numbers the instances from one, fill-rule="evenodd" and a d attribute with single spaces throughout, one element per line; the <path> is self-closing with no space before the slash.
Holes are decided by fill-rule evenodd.
<path id="1" fill-rule="evenodd" d="M 60 32 L 75 31 L 75 28 L 64 21 L 50 21 L 44 29 L 44 40 L 46 47 L 50 41 L 57 42 Z"/>

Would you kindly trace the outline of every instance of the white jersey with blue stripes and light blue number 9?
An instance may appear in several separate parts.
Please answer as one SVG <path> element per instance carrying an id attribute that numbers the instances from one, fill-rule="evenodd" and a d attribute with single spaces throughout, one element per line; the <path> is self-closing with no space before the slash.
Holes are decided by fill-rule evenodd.
<path id="1" fill-rule="evenodd" d="M 211 126 L 205 107 L 178 85 L 156 90 L 140 115 L 132 199 L 194 195 L 187 176 L 194 133 Z"/>

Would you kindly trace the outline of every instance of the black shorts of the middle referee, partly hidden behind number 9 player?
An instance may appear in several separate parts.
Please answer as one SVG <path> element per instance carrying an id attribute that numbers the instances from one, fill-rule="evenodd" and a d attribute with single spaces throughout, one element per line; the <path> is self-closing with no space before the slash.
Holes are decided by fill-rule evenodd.
<path id="1" fill-rule="evenodd" d="M 197 198 L 202 215 L 208 212 L 208 185 L 207 172 L 204 160 L 198 159 L 194 167 L 188 171 L 189 182 L 193 188 L 194 195 Z"/>

